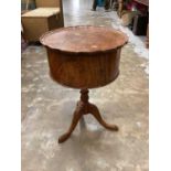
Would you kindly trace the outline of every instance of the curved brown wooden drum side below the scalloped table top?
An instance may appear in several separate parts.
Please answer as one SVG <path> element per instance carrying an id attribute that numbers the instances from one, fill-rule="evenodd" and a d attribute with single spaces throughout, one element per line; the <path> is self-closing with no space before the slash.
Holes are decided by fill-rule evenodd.
<path id="1" fill-rule="evenodd" d="M 99 54 L 64 54 L 47 49 L 51 76 L 73 88 L 95 88 L 113 82 L 119 74 L 120 49 Z"/>

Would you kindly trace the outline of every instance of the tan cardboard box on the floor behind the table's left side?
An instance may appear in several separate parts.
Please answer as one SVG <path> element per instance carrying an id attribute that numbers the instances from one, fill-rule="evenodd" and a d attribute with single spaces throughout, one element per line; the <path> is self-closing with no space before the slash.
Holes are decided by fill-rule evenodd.
<path id="1" fill-rule="evenodd" d="M 22 14 L 21 21 L 23 34 L 29 42 L 39 41 L 43 33 L 63 26 L 60 8 L 38 8 Z"/>

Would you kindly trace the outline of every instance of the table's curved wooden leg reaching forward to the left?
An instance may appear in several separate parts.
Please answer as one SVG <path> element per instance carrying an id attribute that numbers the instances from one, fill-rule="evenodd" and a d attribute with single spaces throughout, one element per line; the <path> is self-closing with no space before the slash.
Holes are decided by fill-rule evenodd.
<path id="1" fill-rule="evenodd" d="M 62 135 L 62 136 L 58 138 L 58 143 L 62 143 L 62 142 L 66 141 L 66 140 L 71 137 L 71 135 L 72 135 L 72 132 L 74 131 L 74 129 L 75 129 L 75 127 L 76 127 L 78 120 L 81 119 L 82 115 L 83 115 L 83 113 L 82 113 L 82 110 L 79 110 L 79 109 L 76 109 L 76 110 L 74 111 L 74 116 L 73 116 L 73 120 L 72 120 L 72 124 L 71 124 L 71 126 L 70 126 L 70 129 L 67 130 L 66 133 Z"/>

